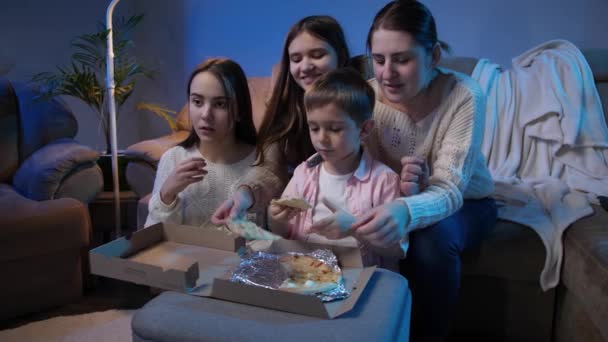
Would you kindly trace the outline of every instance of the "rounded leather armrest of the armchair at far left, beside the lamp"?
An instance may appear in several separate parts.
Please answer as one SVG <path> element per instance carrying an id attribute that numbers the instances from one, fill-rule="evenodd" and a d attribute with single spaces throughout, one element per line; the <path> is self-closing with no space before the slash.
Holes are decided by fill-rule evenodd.
<path id="1" fill-rule="evenodd" d="M 72 139 L 55 140 L 35 151 L 19 166 L 13 177 L 13 186 L 20 194 L 35 201 L 55 199 L 68 176 L 94 168 L 97 159 L 99 152 Z"/>

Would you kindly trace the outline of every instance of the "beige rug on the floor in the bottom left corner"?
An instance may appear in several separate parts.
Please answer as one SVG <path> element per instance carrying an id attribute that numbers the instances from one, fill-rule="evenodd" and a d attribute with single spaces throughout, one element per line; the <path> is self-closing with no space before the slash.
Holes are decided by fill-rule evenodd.
<path id="1" fill-rule="evenodd" d="M 131 317 L 135 310 L 108 310 L 59 316 L 1 330 L 2 342 L 97 342 L 131 341 Z"/>

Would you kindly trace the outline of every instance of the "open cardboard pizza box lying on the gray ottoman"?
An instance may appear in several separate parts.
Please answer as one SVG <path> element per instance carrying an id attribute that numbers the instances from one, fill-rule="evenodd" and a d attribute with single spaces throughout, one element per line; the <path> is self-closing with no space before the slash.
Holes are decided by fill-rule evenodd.
<path id="1" fill-rule="evenodd" d="M 123 237 L 92 249 L 89 257 L 92 274 L 326 319 L 355 306 L 375 269 L 362 266 L 359 248 L 283 239 L 263 246 L 271 253 L 330 248 L 350 296 L 324 303 L 315 296 L 231 282 L 231 272 L 240 262 L 237 251 L 244 247 L 243 238 L 215 228 L 159 223 L 133 233 L 129 240 Z"/>

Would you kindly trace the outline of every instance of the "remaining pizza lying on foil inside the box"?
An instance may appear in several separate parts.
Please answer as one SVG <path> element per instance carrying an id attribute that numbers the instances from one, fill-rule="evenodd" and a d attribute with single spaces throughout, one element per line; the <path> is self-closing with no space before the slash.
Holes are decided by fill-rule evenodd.
<path id="1" fill-rule="evenodd" d="M 284 255 L 279 259 L 289 275 L 279 289 L 301 294 L 326 292 L 338 287 L 342 272 L 309 255 Z"/>

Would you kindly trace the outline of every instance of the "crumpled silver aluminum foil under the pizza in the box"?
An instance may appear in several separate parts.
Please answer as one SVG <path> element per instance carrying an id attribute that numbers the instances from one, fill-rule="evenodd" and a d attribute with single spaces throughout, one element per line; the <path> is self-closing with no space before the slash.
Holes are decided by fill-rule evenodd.
<path id="1" fill-rule="evenodd" d="M 317 249 L 311 253 L 289 252 L 284 254 L 272 254 L 266 252 L 240 251 L 241 262 L 236 267 L 230 278 L 233 282 L 247 285 L 261 286 L 267 289 L 278 289 L 289 277 L 287 270 L 281 266 L 279 258 L 281 255 L 309 255 L 323 261 L 335 271 L 340 270 L 338 258 L 329 249 Z M 336 288 L 330 291 L 314 294 L 323 302 L 331 302 L 346 298 L 350 293 L 341 280 Z"/>

